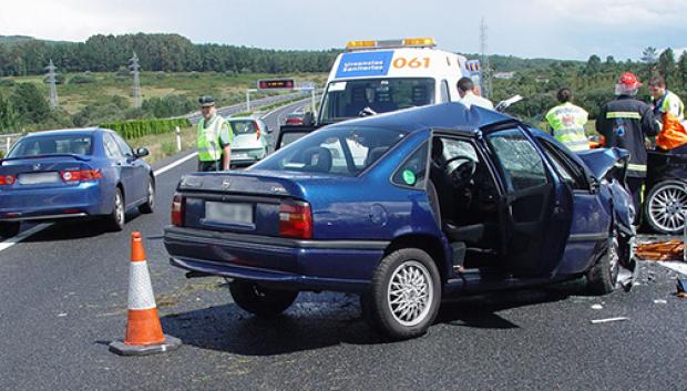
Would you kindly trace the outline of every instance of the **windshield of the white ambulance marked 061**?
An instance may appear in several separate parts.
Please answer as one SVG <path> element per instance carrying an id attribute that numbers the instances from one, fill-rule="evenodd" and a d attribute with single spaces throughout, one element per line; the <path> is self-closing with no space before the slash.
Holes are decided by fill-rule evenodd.
<path id="1" fill-rule="evenodd" d="M 348 120 L 361 112 L 386 113 L 434 103 L 434 79 L 384 78 L 332 81 L 327 88 L 321 124 Z"/>

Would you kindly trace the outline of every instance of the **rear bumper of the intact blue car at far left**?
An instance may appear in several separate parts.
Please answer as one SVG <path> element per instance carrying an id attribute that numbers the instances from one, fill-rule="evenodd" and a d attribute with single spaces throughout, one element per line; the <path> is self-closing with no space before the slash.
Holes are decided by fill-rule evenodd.
<path id="1" fill-rule="evenodd" d="M 0 192 L 0 220 L 55 219 L 107 213 L 99 183 Z"/>

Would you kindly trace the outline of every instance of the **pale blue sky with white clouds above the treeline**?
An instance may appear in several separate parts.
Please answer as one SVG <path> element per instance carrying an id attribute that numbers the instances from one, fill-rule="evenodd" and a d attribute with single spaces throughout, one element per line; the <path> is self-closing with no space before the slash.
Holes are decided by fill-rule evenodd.
<path id="1" fill-rule="evenodd" d="M 687 47 L 685 0 L 0 0 L 0 35 L 85 41 L 94 34 L 178 33 L 195 43 L 342 48 L 349 40 L 433 37 L 441 49 L 639 60 Z"/>

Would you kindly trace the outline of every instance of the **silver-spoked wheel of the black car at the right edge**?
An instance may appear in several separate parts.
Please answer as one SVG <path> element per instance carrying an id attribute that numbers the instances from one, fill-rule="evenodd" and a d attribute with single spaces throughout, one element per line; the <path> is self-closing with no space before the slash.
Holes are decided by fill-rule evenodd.
<path id="1" fill-rule="evenodd" d="M 664 181 L 652 188 L 644 203 L 644 215 L 653 230 L 665 234 L 683 233 L 683 210 L 687 209 L 685 186 L 680 181 Z"/>

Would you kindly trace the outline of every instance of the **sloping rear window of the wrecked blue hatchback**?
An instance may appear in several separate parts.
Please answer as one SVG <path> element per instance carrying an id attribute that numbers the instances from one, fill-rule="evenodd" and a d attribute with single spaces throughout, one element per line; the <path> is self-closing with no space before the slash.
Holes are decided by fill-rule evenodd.
<path id="1" fill-rule="evenodd" d="M 319 130 L 248 169 L 356 176 L 407 134 L 403 131 L 357 126 Z"/>

